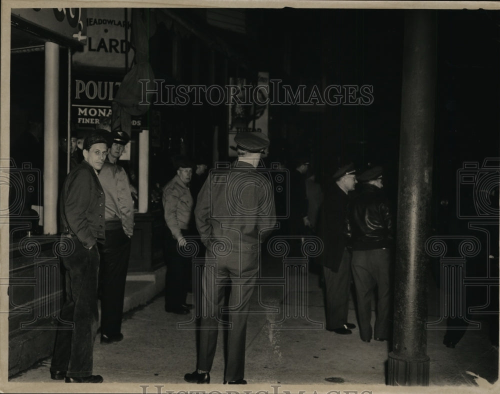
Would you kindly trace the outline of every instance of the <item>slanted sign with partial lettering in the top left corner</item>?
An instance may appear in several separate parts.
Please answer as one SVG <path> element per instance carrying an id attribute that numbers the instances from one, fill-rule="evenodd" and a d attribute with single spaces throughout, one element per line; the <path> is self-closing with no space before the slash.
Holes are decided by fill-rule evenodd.
<path id="1" fill-rule="evenodd" d="M 11 14 L 65 38 L 85 40 L 85 8 L 17 8 Z"/>

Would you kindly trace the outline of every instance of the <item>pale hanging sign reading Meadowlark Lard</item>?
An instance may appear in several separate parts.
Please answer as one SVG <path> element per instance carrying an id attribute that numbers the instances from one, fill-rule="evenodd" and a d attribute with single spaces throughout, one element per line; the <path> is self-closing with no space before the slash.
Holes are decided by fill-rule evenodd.
<path id="1" fill-rule="evenodd" d="M 131 10 L 124 8 L 88 8 L 86 45 L 73 54 L 75 66 L 125 68 L 134 51 L 130 47 Z M 126 35 L 126 36 L 125 36 Z"/>

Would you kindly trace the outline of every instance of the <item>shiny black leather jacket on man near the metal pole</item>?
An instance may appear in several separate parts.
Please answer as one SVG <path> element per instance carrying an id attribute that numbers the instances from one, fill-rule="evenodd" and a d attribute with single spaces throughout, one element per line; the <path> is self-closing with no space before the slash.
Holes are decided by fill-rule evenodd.
<path id="1" fill-rule="evenodd" d="M 353 250 L 380 249 L 392 245 L 392 216 L 381 189 L 363 185 L 350 204 L 346 233 Z"/>

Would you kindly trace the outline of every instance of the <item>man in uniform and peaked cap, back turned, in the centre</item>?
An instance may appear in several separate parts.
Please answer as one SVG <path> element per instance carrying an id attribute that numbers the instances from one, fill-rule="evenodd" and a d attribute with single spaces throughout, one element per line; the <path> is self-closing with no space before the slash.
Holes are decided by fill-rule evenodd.
<path id="1" fill-rule="evenodd" d="M 217 325 L 227 313 L 227 357 L 224 383 L 244 380 L 246 321 L 259 268 L 260 244 L 276 223 L 269 179 L 257 169 L 269 140 L 259 132 L 236 134 L 238 159 L 226 169 L 216 169 L 198 194 L 194 217 L 206 247 L 202 273 L 202 307 L 196 370 L 184 375 L 191 383 L 209 383 L 217 344 Z M 220 244 L 227 245 L 220 252 Z M 213 249 L 212 249 L 213 247 Z M 215 261 L 208 264 L 208 261 Z M 224 306 L 223 280 L 230 283 L 228 307 Z"/>

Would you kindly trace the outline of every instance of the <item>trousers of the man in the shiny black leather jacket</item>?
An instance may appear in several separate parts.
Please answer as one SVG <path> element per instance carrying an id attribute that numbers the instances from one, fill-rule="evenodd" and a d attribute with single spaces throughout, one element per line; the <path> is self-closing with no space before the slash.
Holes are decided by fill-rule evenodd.
<path id="1" fill-rule="evenodd" d="M 388 338 L 390 330 L 390 250 L 353 250 L 352 277 L 356 287 L 359 335 L 371 339 L 371 293 L 377 287 L 375 337 Z"/>

